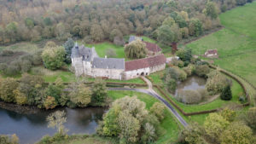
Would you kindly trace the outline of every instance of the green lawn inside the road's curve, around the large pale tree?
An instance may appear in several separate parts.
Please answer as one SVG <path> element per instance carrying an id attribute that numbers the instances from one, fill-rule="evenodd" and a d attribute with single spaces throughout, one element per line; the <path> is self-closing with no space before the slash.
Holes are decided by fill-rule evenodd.
<path id="1" fill-rule="evenodd" d="M 146 103 L 146 108 L 149 109 L 153 106 L 154 102 L 158 100 L 151 95 L 146 95 L 143 93 L 138 93 L 134 91 L 108 91 L 108 96 L 113 100 L 124 97 L 125 95 L 133 96 L 137 95 L 137 98 Z M 160 127 L 162 129 L 162 135 L 159 137 L 156 143 L 166 144 L 177 140 L 180 127 L 177 124 L 176 119 L 172 118 L 170 111 L 166 109 L 166 118 L 161 122 Z"/>

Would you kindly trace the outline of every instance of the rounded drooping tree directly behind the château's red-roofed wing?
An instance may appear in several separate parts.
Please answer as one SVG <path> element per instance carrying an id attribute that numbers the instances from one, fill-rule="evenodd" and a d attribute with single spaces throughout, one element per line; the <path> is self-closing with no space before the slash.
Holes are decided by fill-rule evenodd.
<path id="1" fill-rule="evenodd" d="M 147 52 L 148 50 L 146 49 L 146 44 L 141 40 L 136 40 L 125 45 L 125 55 L 127 58 L 144 58 L 147 55 Z"/>

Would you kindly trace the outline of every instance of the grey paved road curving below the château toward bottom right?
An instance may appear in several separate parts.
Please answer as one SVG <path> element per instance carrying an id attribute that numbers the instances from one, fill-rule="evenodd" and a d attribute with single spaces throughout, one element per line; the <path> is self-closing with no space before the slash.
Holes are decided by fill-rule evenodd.
<path id="1" fill-rule="evenodd" d="M 187 122 L 178 114 L 178 112 L 174 109 L 174 107 L 172 107 L 172 105 L 169 104 L 168 101 L 166 101 L 165 99 L 163 99 L 160 95 L 158 95 L 156 92 L 154 92 L 153 89 L 129 89 L 129 88 L 108 88 L 108 90 L 131 90 L 131 91 L 137 91 L 137 92 L 141 92 L 144 94 L 148 94 L 148 95 L 152 95 L 155 98 L 157 98 L 158 100 L 162 101 L 166 107 L 168 107 L 168 109 L 173 113 L 173 115 L 177 118 L 177 120 L 183 124 L 184 127 L 186 127 L 188 124 Z"/>

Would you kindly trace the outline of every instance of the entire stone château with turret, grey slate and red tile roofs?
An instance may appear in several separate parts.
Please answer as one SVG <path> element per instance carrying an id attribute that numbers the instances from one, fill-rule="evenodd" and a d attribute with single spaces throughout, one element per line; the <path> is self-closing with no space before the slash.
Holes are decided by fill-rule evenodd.
<path id="1" fill-rule="evenodd" d="M 101 58 L 96 54 L 95 48 L 79 46 L 77 43 L 72 49 L 71 58 L 76 76 L 84 74 L 93 78 L 127 80 L 166 68 L 166 57 L 163 54 L 131 61 L 107 56 Z"/>

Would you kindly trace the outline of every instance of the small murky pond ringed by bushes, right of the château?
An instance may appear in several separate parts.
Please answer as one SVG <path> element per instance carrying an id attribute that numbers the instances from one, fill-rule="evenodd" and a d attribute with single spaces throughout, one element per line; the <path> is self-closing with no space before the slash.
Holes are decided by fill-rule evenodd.
<path id="1" fill-rule="evenodd" d="M 183 82 L 178 82 L 175 95 L 179 90 L 195 90 L 195 89 L 205 89 L 207 79 L 198 76 L 191 76 Z"/>

